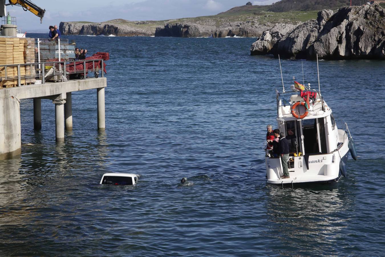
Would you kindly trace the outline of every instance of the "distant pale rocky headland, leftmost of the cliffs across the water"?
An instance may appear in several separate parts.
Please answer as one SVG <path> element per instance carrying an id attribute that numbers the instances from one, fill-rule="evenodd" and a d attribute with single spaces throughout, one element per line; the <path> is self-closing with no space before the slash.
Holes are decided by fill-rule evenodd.
<path id="1" fill-rule="evenodd" d="M 153 36 L 154 27 L 134 27 L 124 24 L 60 22 L 63 35 L 115 35 L 115 36 Z"/>

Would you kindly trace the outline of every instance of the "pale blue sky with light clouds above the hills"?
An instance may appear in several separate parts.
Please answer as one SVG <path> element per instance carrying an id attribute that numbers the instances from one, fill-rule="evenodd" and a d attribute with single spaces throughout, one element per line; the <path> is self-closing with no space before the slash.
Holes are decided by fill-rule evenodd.
<path id="1" fill-rule="evenodd" d="M 277 0 L 249 0 L 253 5 L 269 5 Z M 22 32 L 47 32 L 50 25 L 60 22 L 104 22 L 116 18 L 125 20 L 170 20 L 215 15 L 230 8 L 245 5 L 248 0 L 33 0 L 45 9 L 43 23 L 32 12 L 20 6 L 8 5 L 7 12 L 16 17 Z M 8 1 L 6 1 L 8 3 Z"/>

